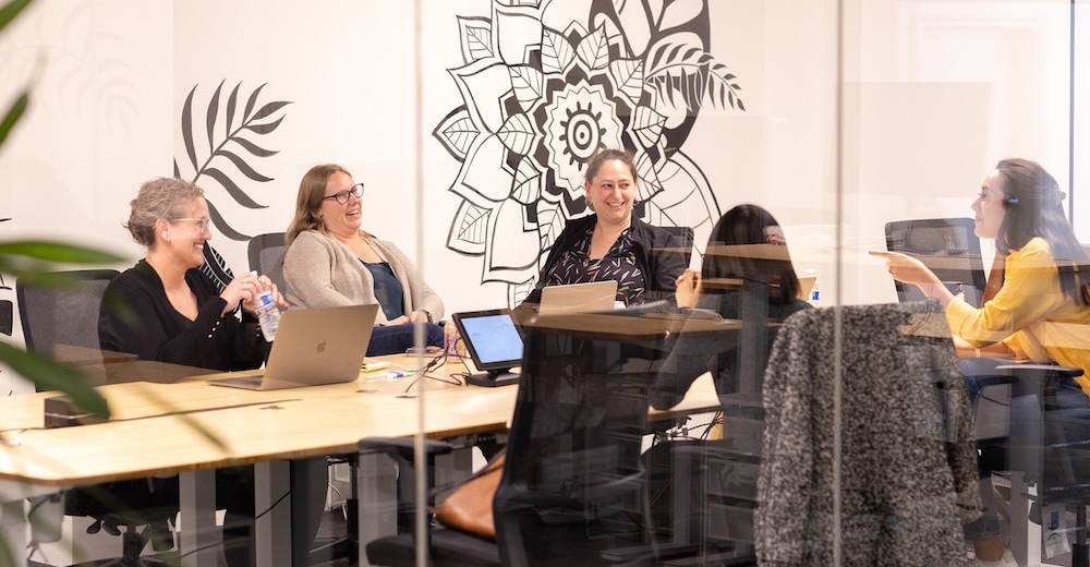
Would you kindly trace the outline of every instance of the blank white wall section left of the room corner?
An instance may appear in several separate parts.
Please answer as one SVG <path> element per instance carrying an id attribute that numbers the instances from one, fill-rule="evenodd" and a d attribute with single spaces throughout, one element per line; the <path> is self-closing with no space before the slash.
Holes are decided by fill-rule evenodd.
<path id="1" fill-rule="evenodd" d="M 0 234 L 135 254 L 119 226 L 133 188 L 169 173 L 169 2 L 36 2 L 0 35 L 4 110 L 33 88 L 0 148 Z"/>

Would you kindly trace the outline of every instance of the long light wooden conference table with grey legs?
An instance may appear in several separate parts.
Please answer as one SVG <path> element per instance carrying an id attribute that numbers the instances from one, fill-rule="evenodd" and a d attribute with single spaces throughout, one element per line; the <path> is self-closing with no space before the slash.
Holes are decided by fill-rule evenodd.
<path id="1" fill-rule="evenodd" d="M 404 355 L 380 359 L 391 362 L 391 367 L 411 367 L 417 361 Z M 447 377 L 464 370 L 461 363 L 448 363 L 435 374 Z M 182 565 L 215 566 L 215 469 L 254 463 L 256 509 L 269 510 L 258 518 L 257 562 L 289 565 L 290 506 L 287 499 L 278 502 L 288 490 L 284 459 L 356 453 L 364 437 L 416 434 L 420 401 L 412 393 L 422 387 L 428 437 L 502 432 L 518 391 L 516 387 L 456 386 L 437 379 L 421 379 L 410 389 L 412 374 L 400 378 L 361 375 L 349 384 L 275 391 L 211 386 L 206 383 L 209 377 L 100 386 L 97 389 L 110 405 L 111 421 L 73 427 L 44 427 L 44 400 L 56 393 L 0 399 L 2 535 L 8 542 L 26 540 L 27 497 L 77 485 L 180 474 Z M 654 411 L 652 417 L 700 413 L 718 406 L 705 374 L 681 403 L 669 411 Z M 368 467 L 362 459 L 361 474 L 367 475 Z M 361 487 L 361 500 L 377 497 L 368 491 Z M 391 495 L 383 497 L 389 500 Z M 365 508 L 361 506 L 361 516 L 374 514 L 373 508 L 364 512 Z M 375 536 L 392 533 L 396 526 L 396 521 L 361 517 L 361 547 Z M 12 547 L 21 550 L 22 545 Z M 361 565 L 365 557 L 361 548 Z"/>

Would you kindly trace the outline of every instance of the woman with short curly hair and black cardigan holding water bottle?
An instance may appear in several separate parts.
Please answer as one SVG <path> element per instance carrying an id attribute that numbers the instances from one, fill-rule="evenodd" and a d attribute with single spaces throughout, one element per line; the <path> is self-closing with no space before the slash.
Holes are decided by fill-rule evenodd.
<path id="1" fill-rule="evenodd" d="M 266 276 L 247 272 L 219 291 L 201 272 L 205 242 L 211 240 L 204 191 L 180 179 L 157 178 L 141 185 L 131 207 L 125 228 L 147 254 L 106 289 L 105 294 L 124 309 L 104 302 L 98 319 L 101 348 L 214 371 L 261 366 L 266 342 L 254 314 L 257 297 L 271 289 L 277 304 L 288 303 Z M 234 313 L 240 303 L 241 319 Z M 256 565 L 253 467 L 217 470 L 216 500 L 227 509 L 228 563 Z M 315 532 L 316 527 L 311 540 Z"/>

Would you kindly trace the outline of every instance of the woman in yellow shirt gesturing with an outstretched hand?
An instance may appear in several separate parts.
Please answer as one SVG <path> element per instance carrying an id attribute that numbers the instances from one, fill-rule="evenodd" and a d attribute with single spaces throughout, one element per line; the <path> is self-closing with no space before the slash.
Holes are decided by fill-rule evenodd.
<path id="1" fill-rule="evenodd" d="M 980 238 L 995 239 L 996 254 L 1006 257 L 1002 287 L 980 309 L 950 293 L 918 260 L 871 252 L 886 258 L 895 279 L 915 284 L 943 305 L 959 354 L 972 357 L 961 361 L 961 369 L 974 401 L 980 387 L 973 378 L 994 374 L 994 367 L 1005 362 L 978 358 L 981 353 L 1055 362 L 1090 372 L 1090 295 L 1078 276 L 1078 266 L 1087 264 L 1088 255 L 1064 215 L 1064 196 L 1044 168 L 1026 159 L 1004 159 L 984 178 L 972 203 L 974 231 Z M 1090 408 L 1088 395 L 1087 374 L 1062 378 L 1056 386 L 1063 408 Z M 1016 407 L 1012 400 L 1015 422 L 1019 420 Z M 1073 427 L 1071 421 L 1065 420 L 1068 442 L 1090 438 L 1090 432 Z M 966 536 L 973 541 L 976 565 L 1014 566 L 1014 557 L 1000 536 L 995 511 L 989 506 L 991 484 L 981 485 L 984 518 L 966 527 Z"/>

